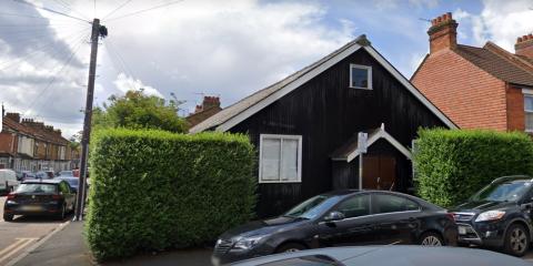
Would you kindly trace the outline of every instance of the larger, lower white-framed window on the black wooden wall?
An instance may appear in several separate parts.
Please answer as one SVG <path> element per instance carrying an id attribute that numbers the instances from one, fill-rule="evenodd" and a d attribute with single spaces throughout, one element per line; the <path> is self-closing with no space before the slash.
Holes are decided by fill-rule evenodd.
<path id="1" fill-rule="evenodd" d="M 302 181 L 302 136 L 261 134 L 259 183 Z"/>

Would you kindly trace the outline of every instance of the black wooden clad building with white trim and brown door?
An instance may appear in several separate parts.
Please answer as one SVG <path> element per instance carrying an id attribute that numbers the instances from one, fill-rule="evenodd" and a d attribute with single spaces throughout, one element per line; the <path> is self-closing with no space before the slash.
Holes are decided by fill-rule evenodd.
<path id="1" fill-rule="evenodd" d="M 190 132 L 250 135 L 258 150 L 258 216 L 359 186 L 358 133 L 369 135 L 363 187 L 409 192 L 419 127 L 456 127 L 361 35 L 223 109 Z"/>

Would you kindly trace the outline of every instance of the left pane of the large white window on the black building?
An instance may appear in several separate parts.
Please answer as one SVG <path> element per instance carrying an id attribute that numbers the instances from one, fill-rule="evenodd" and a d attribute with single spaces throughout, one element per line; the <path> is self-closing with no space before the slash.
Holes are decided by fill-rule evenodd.
<path id="1" fill-rule="evenodd" d="M 280 149 L 281 140 L 263 139 L 262 157 L 261 157 L 261 180 L 278 181 L 280 180 Z"/>

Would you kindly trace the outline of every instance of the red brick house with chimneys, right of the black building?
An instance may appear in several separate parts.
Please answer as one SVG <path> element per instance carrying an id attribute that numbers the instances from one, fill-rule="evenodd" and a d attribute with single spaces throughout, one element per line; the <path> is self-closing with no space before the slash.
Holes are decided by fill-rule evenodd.
<path id="1" fill-rule="evenodd" d="M 533 37 L 515 53 L 459 44 L 452 13 L 433 19 L 430 53 L 411 82 L 461 129 L 533 132 Z"/>

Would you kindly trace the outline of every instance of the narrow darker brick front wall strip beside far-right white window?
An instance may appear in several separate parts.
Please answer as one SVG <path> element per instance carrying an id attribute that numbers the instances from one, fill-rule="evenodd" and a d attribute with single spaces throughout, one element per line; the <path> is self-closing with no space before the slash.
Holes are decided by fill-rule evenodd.
<path id="1" fill-rule="evenodd" d="M 521 88 L 507 85 L 507 130 L 525 131 L 524 94 Z"/>

